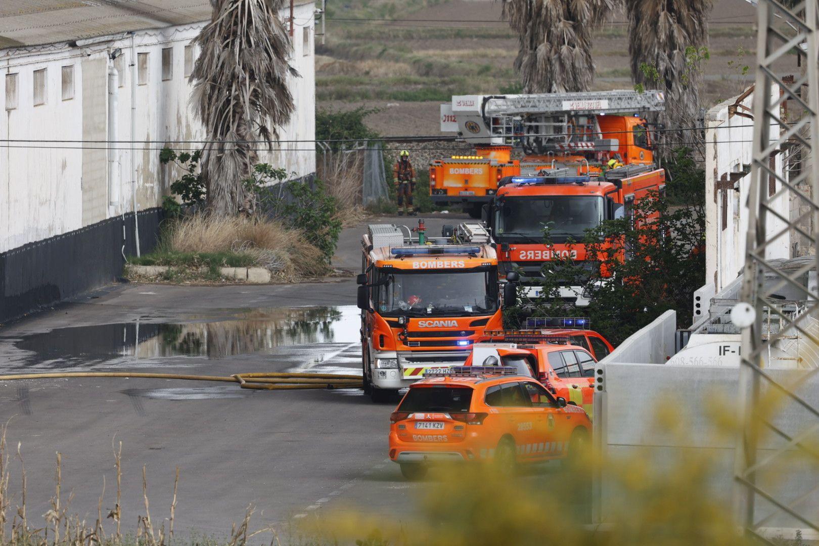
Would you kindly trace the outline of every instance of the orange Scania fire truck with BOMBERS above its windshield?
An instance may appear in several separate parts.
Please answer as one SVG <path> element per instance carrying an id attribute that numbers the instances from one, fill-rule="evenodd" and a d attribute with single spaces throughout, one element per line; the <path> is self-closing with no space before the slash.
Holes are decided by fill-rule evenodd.
<path id="1" fill-rule="evenodd" d="M 373 401 L 396 396 L 428 368 L 463 364 L 483 331 L 501 325 L 495 249 L 428 240 L 423 220 L 416 231 L 370 225 L 361 239 L 361 355 Z"/>

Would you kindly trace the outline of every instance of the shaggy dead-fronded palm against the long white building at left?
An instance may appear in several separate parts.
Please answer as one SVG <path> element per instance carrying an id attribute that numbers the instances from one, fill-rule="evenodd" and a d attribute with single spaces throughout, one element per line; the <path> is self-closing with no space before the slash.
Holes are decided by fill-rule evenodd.
<path id="1" fill-rule="evenodd" d="M 201 173 L 211 214 L 253 213 L 243 181 L 256 165 L 260 143 L 272 148 L 278 127 L 290 120 L 287 79 L 292 50 L 278 19 L 283 0 L 210 0 L 213 16 L 195 43 L 192 103 L 209 141 Z"/>

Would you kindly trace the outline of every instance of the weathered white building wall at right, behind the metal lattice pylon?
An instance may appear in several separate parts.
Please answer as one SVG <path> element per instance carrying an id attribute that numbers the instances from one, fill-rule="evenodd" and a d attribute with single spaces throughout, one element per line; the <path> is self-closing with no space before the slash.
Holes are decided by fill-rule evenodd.
<path id="1" fill-rule="evenodd" d="M 771 95 L 774 100 L 778 98 L 775 87 L 771 88 Z M 739 98 L 714 106 L 705 119 L 705 278 L 707 285 L 713 283 L 716 292 L 733 281 L 742 272 L 745 263 L 751 174 L 741 178 L 739 174 L 750 172 L 753 120 L 745 115 L 752 114 L 753 93 L 738 102 Z M 779 125 L 772 126 L 771 137 L 776 137 L 778 131 Z M 776 172 L 780 175 L 783 159 L 783 153 L 776 155 Z M 737 178 L 734 184 L 736 189 L 717 190 L 716 184 L 723 179 L 730 180 L 731 174 Z M 764 184 L 767 187 L 767 177 Z M 776 182 L 776 192 L 780 190 L 781 183 Z M 722 207 L 723 193 L 726 196 L 725 210 Z M 783 192 L 771 201 L 771 207 L 788 218 L 789 194 Z M 723 218 L 726 219 L 725 224 Z M 767 233 L 772 235 L 784 227 L 781 221 L 771 219 L 767 223 Z M 785 234 L 776 245 L 768 248 L 767 258 L 790 258 L 790 234 Z"/>

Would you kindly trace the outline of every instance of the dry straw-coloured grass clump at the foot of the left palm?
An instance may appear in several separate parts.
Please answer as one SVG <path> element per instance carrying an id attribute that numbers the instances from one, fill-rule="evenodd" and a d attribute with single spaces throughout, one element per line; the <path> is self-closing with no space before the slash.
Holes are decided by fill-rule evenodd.
<path id="1" fill-rule="evenodd" d="M 324 256 L 298 229 L 275 220 L 195 214 L 171 223 L 163 234 L 165 252 L 243 253 L 282 280 L 327 273 Z"/>

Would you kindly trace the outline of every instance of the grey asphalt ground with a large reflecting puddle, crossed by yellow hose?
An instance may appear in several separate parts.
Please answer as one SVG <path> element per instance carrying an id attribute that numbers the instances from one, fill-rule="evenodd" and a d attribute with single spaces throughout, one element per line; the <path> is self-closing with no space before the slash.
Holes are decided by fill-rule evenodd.
<path id="1" fill-rule="evenodd" d="M 452 217 L 428 221 L 430 232 Z M 342 234 L 337 267 L 360 267 L 361 231 Z M 354 305 L 351 278 L 104 287 L 0 327 L 0 373 L 355 373 L 360 318 Z M 254 527 L 287 527 L 333 508 L 409 517 L 425 484 L 406 482 L 387 460 L 393 406 L 372 404 L 360 390 L 265 392 L 135 378 L 0 381 L 0 418 L 9 420 L 11 449 L 20 443 L 29 517 L 42 524 L 38 517 L 49 508 L 57 451 L 63 502 L 75 495 L 70 512 L 94 521 L 104 479 L 105 516 L 115 504 L 112 444 L 121 441 L 122 525 L 129 532 L 144 513 L 143 466 L 155 522 L 169 515 L 179 467 L 175 526 L 197 535 L 229 533 L 249 504 L 256 508 Z M 20 470 L 12 458 L 12 492 L 20 490 Z"/>

